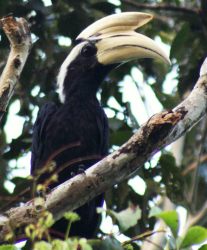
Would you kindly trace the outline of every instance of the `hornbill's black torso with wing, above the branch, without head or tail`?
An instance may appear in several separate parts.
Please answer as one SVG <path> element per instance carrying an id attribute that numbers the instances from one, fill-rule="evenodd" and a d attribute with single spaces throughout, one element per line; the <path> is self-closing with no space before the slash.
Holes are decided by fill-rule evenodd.
<path id="1" fill-rule="evenodd" d="M 39 113 L 35 133 L 39 133 L 41 141 L 33 140 L 32 174 L 59 150 L 61 152 L 53 159 L 59 167 L 66 162 L 72 166 L 72 160 L 83 158 L 84 161 L 86 157 L 89 161 L 100 160 L 107 154 L 108 123 L 96 98 L 81 101 L 71 98 L 60 107 L 47 103 Z M 75 165 L 82 165 L 81 162 Z M 59 173 L 61 182 L 68 179 L 65 172 L 72 172 L 71 167 Z"/>

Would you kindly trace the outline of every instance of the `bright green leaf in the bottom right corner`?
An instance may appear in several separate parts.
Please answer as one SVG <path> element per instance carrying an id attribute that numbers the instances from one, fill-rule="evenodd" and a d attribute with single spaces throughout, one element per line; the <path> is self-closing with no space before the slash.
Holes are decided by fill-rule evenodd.
<path id="1" fill-rule="evenodd" d="M 181 243 L 181 248 L 200 244 L 207 240 L 207 229 L 201 226 L 190 227 Z"/>

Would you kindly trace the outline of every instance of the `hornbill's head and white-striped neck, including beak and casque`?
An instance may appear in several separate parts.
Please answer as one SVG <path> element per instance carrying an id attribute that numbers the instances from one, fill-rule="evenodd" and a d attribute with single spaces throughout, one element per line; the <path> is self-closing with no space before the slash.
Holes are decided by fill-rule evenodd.
<path id="1" fill-rule="evenodd" d="M 124 62 L 155 58 L 169 64 L 166 53 L 152 39 L 135 32 L 152 18 L 146 13 L 125 12 L 84 29 L 60 68 L 57 84 L 61 101 L 76 93 L 95 95 L 109 71 Z"/>

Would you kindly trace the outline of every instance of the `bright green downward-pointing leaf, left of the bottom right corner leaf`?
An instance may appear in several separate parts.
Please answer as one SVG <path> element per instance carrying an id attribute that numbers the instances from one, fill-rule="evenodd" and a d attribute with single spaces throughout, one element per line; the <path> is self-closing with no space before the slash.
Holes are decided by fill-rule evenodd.
<path id="1" fill-rule="evenodd" d="M 173 236 L 176 238 L 179 228 L 179 219 L 176 211 L 164 211 L 155 215 L 157 218 L 162 219 L 166 225 L 171 229 Z"/>

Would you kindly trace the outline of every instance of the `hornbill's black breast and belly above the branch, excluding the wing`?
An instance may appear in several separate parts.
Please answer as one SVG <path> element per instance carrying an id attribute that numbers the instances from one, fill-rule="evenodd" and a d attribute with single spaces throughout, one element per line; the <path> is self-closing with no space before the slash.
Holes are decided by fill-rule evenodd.
<path id="1" fill-rule="evenodd" d="M 57 167 L 68 165 L 69 172 L 78 165 L 87 168 L 106 155 L 106 129 L 107 120 L 99 104 L 62 105 L 47 125 L 44 160 L 52 155 Z"/>

